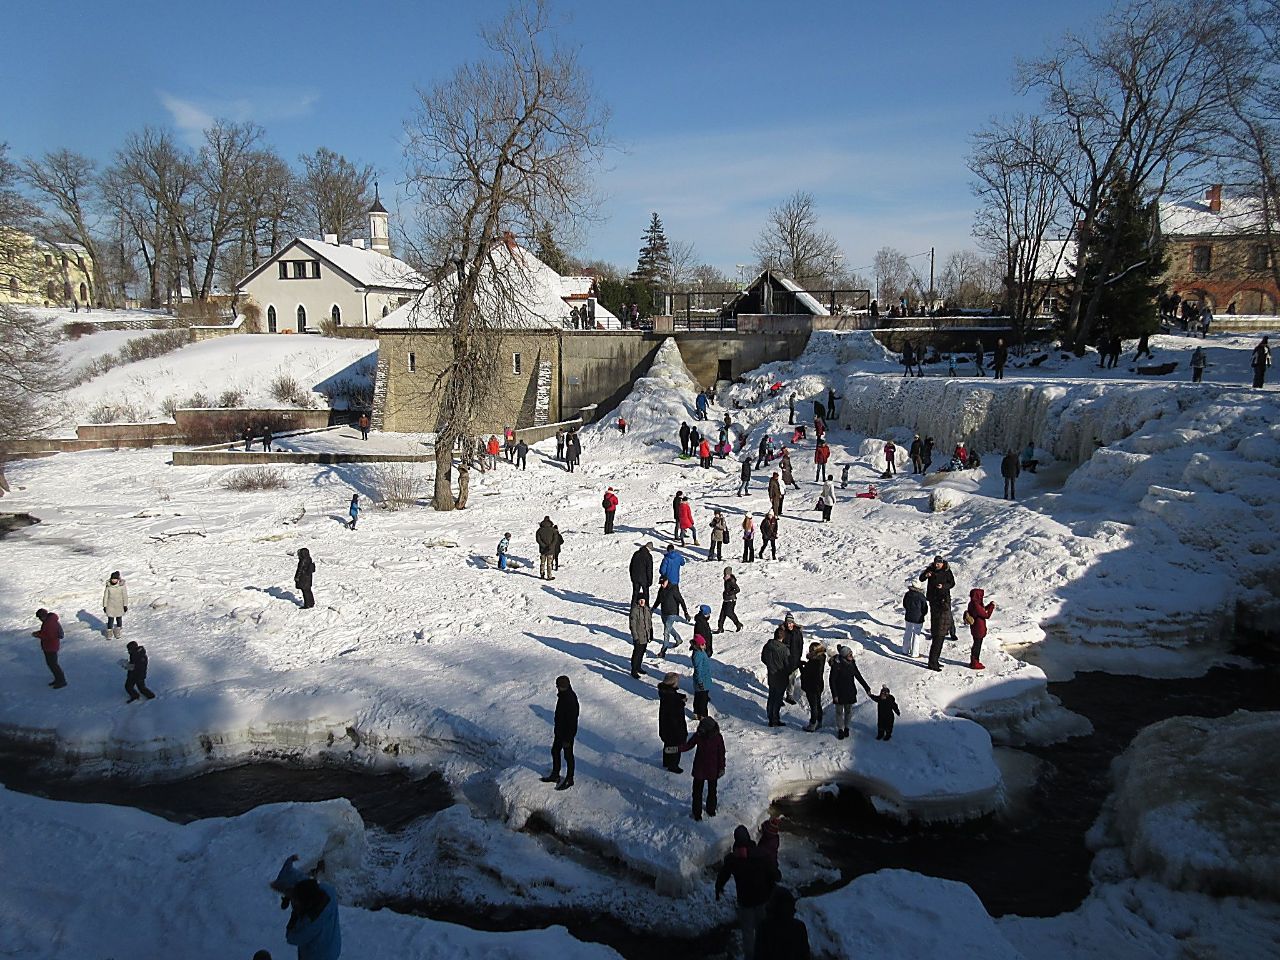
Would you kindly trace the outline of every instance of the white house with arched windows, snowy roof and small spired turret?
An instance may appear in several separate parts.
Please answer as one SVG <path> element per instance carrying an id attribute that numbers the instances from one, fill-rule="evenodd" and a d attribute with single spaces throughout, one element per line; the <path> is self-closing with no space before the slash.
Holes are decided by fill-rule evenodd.
<path id="1" fill-rule="evenodd" d="M 387 210 L 375 196 L 369 237 L 338 243 L 298 237 L 275 251 L 236 284 L 242 300 L 257 305 L 268 333 L 319 333 L 335 326 L 372 326 L 416 297 L 426 278 L 390 255 Z"/>

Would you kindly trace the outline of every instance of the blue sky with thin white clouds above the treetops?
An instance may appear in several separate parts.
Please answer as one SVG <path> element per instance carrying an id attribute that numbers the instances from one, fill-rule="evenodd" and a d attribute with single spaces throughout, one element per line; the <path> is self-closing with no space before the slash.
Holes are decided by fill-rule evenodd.
<path id="1" fill-rule="evenodd" d="M 618 150 L 599 173 L 600 220 L 579 252 L 630 266 L 649 212 L 672 239 L 733 271 L 769 207 L 817 200 L 846 265 L 877 248 L 973 246 L 969 134 L 1023 109 L 1014 59 L 1110 8 L 1100 0 L 722 3 L 559 0 L 613 111 Z M 165 124 L 252 119 L 285 156 L 328 146 L 402 177 L 403 120 L 428 87 L 479 52 L 495 0 L 45 0 L 8 13 L 0 140 L 26 155 L 67 146 L 106 159 Z M 867 273 L 867 271 L 864 271 Z"/>

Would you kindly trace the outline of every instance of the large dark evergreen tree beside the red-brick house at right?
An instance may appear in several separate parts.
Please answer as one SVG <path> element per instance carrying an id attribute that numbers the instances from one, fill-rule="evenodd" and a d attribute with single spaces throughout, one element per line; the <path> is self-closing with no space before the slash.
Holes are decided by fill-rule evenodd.
<path id="1" fill-rule="evenodd" d="M 1101 275 L 1105 251 L 1114 250 L 1112 269 Z M 1098 329 L 1120 337 L 1139 337 L 1160 329 L 1156 298 L 1165 287 L 1160 278 L 1169 266 L 1160 236 L 1156 204 L 1144 202 L 1137 184 L 1120 179 L 1107 191 L 1106 206 L 1094 221 L 1083 262 L 1082 296 L 1100 289 Z"/>

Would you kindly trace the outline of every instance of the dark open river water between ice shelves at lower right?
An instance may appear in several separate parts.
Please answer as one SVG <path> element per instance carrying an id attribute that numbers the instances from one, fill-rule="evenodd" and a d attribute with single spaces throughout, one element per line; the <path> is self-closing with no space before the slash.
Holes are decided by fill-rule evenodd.
<path id="1" fill-rule="evenodd" d="M 1093 854 L 1084 846 L 1084 833 L 1111 792 L 1111 760 L 1139 730 L 1169 717 L 1280 708 L 1277 675 L 1272 664 L 1216 668 L 1189 680 L 1079 673 L 1050 684 L 1050 692 L 1088 717 L 1094 732 L 1053 746 L 1023 748 L 1042 762 L 1041 776 L 1007 817 L 904 827 L 851 791 L 781 801 L 776 810 L 786 818 L 785 832 L 814 844 L 841 872 L 841 883 L 814 884 L 804 892 L 823 892 L 893 867 L 963 881 L 995 916 L 1074 910 L 1089 892 Z"/>

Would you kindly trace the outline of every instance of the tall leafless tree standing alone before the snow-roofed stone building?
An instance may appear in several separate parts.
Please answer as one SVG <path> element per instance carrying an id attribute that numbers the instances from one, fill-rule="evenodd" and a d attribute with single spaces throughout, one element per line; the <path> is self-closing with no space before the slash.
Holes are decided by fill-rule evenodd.
<path id="1" fill-rule="evenodd" d="M 422 92 L 407 123 L 420 227 L 412 256 L 434 282 L 425 298 L 440 308 L 452 347 L 433 385 L 436 509 L 458 506 L 454 443 L 474 448 L 495 396 L 503 332 L 534 308 L 522 260 L 504 237 L 530 242 L 548 223 L 590 212 L 588 172 L 608 119 L 576 51 L 556 42 L 544 3 L 517 4 L 481 38 L 485 59 Z"/>

